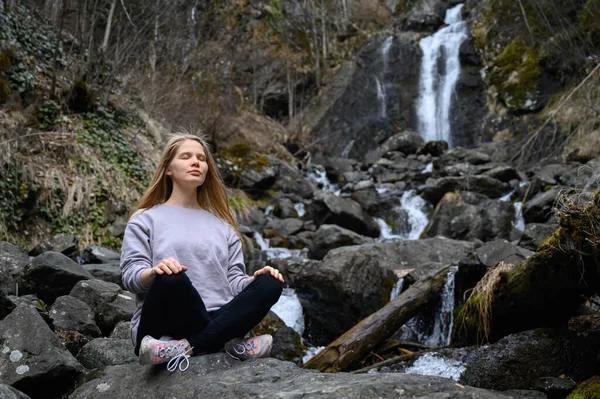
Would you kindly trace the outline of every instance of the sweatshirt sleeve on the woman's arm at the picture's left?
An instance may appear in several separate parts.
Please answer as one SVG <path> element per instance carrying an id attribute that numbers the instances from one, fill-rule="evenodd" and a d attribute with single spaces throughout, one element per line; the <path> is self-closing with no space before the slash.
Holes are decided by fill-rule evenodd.
<path id="1" fill-rule="evenodd" d="M 134 216 L 125 228 L 121 249 L 121 274 L 125 288 L 134 294 L 148 291 L 142 285 L 141 274 L 151 267 L 150 229 L 140 216 Z"/>

